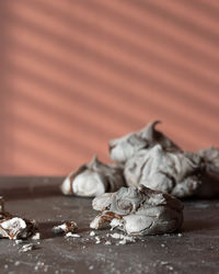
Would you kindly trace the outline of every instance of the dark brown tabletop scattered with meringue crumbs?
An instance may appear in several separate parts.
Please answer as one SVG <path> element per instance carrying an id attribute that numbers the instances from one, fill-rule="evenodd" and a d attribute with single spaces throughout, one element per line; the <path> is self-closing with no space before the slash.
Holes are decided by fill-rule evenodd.
<path id="1" fill-rule="evenodd" d="M 39 224 L 36 250 L 21 253 L 22 244 L 0 239 L 0 273 L 219 273 L 219 199 L 185 201 L 182 236 L 150 236 L 125 246 L 90 236 L 96 215 L 90 198 L 66 197 L 61 178 L 0 178 L 7 210 Z M 81 238 L 57 237 L 51 227 L 76 220 Z M 105 241 L 110 240 L 111 246 Z"/>

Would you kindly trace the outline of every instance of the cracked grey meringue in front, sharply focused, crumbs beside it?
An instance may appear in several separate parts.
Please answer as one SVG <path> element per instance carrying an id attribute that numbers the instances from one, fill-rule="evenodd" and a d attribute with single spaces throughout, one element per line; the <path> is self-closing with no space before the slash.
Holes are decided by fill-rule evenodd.
<path id="1" fill-rule="evenodd" d="M 91 228 L 110 225 L 132 236 L 173 232 L 183 224 L 183 204 L 177 198 L 143 185 L 105 193 L 93 199 L 93 208 L 101 214 Z"/>

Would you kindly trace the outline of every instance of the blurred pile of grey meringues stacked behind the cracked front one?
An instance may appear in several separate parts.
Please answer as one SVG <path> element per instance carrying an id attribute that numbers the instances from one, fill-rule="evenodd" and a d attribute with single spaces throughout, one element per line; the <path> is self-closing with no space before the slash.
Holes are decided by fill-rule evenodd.
<path id="1" fill-rule="evenodd" d="M 207 196 L 218 195 L 219 149 L 183 151 L 155 129 L 158 123 L 152 122 L 140 132 L 111 140 L 110 156 L 117 164 L 104 164 L 94 157 L 66 178 L 62 193 L 94 197 L 122 186 L 142 184 L 181 198 L 205 195 L 201 187 L 207 189 Z"/>

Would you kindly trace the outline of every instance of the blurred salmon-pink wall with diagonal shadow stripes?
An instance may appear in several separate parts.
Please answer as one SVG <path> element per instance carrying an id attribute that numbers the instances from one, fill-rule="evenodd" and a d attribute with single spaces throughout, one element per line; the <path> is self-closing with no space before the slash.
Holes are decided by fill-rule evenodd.
<path id="1" fill-rule="evenodd" d="M 65 175 L 161 119 L 219 146 L 217 0 L 0 1 L 0 174 Z"/>

